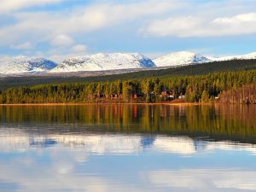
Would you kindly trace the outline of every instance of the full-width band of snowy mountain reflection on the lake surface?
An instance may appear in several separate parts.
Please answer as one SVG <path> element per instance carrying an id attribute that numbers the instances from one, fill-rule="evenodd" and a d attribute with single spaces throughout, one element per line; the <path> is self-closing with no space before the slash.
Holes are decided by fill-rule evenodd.
<path id="1" fill-rule="evenodd" d="M 256 154 L 255 144 L 210 142 L 189 137 L 139 135 L 33 135 L 15 131 L 1 132 L 0 153 L 26 151 L 30 148 L 61 147 L 96 154 L 138 154 L 143 148 L 161 153 L 195 154 L 205 150 L 244 150 Z"/>

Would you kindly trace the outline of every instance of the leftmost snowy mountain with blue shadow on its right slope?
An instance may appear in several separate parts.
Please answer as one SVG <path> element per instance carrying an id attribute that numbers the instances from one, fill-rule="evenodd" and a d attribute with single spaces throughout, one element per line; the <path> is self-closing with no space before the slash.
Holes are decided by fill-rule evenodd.
<path id="1" fill-rule="evenodd" d="M 54 61 L 26 56 L 5 57 L 0 59 L 0 74 L 44 73 L 56 67 Z"/>

